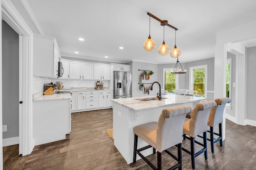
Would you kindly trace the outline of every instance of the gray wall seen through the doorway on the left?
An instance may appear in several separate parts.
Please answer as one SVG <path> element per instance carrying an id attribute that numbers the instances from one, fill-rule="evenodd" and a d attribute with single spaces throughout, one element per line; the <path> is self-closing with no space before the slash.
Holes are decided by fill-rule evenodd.
<path id="1" fill-rule="evenodd" d="M 2 20 L 3 139 L 19 136 L 19 35 Z"/>

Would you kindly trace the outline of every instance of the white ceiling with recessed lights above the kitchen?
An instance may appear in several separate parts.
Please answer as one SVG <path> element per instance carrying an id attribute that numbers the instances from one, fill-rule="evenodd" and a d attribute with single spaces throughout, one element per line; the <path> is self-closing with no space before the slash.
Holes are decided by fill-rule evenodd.
<path id="1" fill-rule="evenodd" d="M 216 31 L 256 16 L 255 0 L 27 0 L 44 35 L 56 37 L 65 57 L 126 63 L 175 63 L 158 54 L 163 26 L 151 18 L 152 52 L 143 49 L 148 39 L 150 12 L 178 28 L 179 60 L 214 57 Z M 173 49 L 175 31 L 165 27 L 164 41 Z M 83 38 L 84 41 L 79 41 Z M 254 41 L 244 42 L 248 46 Z M 124 49 L 119 49 L 124 47 Z M 78 54 L 74 53 L 79 52 Z M 108 56 L 108 58 L 105 58 Z"/>

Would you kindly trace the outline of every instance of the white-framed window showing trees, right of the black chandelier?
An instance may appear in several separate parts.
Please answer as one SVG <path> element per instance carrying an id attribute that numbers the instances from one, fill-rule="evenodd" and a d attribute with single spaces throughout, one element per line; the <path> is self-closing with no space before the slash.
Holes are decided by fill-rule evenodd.
<path id="1" fill-rule="evenodd" d="M 207 97 L 207 65 L 190 67 L 190 90 L 197 90 L 199 95 Z"/>

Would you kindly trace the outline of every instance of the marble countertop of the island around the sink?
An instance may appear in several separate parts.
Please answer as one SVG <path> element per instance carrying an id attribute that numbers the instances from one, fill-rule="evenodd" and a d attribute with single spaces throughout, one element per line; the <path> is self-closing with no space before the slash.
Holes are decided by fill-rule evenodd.
<path id="1" fill-rule="evenodd" d="M 134 111 L 140 111 L 145 109 L 152 109 L 156 107 L 162 106 L 171 106 L 176 104 L 184 104 L 189 102 L 199 102 L 202 100 L 206 100 L 202 97 L 194 97 L 194 96 L 183 96 L 183 95 L 176 95 L 176 94 L 169 94 L 169 95 L 162 95 L 162 100 L 151 100 L 151 101 L 140 101 L 136 99 L 140 98 L 153 98 L 156 96 L 144 96 L 144 97 L 137 97 L 137 98 L 121 98 L 121 99 L 111 99 L 112 102 L 120 104 L 128 109 L 132 109 Z"/>

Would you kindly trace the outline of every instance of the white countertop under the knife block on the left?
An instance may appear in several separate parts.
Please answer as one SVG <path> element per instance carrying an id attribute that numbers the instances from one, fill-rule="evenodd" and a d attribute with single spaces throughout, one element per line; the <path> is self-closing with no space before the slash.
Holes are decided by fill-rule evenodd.
<path id="1" fill-rule="evenodd" d="M 70 93 L 62 93 L 62 94 L 49 94 L 43 95 L 43 92 L 38 92 L 33 94 L 33 101 L 44 101 L 44 100 L 64 100 L 71 99 Z"/>

